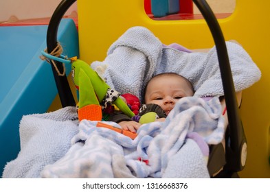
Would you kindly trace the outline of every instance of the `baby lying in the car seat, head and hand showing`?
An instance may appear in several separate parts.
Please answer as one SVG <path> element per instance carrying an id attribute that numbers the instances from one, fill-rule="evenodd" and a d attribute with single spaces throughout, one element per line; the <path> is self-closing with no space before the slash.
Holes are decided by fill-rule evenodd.
<path id="1" fill-rule="evenodd" d="M 161 73 L 146 84 L 143 108 L 157 112 L 157 121 L 164 121 L 179 99 L 193 95 L 192 84 L 185 77 L 177 73 Z M 109 121 L 115 121 L 123 130 L 131 132 L 136 132 L 142 125 L 124 114 L 113 115 Z"/>

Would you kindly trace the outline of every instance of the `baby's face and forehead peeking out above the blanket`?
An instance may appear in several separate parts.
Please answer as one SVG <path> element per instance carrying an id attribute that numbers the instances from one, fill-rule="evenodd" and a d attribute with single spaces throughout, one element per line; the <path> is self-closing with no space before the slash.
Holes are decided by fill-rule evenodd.
<path id="1" fill-rule="evenodd" d="M 161 106 L 166 115 L 182 97 L 194 95 L 188 82 L 177 75 L 161 76 L 148 83 L 145 94 L 146 104 Z"/>

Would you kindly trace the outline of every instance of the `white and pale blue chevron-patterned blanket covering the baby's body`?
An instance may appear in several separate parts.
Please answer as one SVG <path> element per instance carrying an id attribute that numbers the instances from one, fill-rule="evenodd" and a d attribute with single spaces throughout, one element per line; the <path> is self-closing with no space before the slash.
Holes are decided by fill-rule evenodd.
<path id="1" fill-rule="evenodd" d="M 217 97 L 210 101 L 197 97 L 181 99 L 165 122 L 142 125 L 134 140 L 113 130 L 97 128 L 96 123 L 81 121 L 67 154 L 47 165 L 41 176 L 209 178 L 207 145 L 220 143 L 224 134 Z"/>

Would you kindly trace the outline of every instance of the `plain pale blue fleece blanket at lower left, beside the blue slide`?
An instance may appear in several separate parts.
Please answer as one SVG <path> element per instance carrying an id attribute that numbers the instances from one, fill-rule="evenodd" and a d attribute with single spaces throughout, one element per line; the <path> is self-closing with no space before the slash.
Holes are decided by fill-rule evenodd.
<path id="1" fill-rule="evenodd" d="M 40 178 L 45 165 L 55 163 L 71 147 L 71 139 L 78 133 L 75 107 L 67 107 L 45 114 L 25 115 L 19 134 L 21 151 L 5 165 L 3 178 Z"/>

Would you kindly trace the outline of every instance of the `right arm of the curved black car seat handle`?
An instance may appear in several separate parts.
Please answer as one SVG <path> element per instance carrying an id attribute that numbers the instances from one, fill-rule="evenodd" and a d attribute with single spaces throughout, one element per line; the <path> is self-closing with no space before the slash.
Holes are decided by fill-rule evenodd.
<path id="1" fill-rule="evenodd" d="M 245 150 L 243 149 L 243 145 L 246 146 L 247 141 L 239 115 L 225 39 L 216 16 L 214 16 L 214 13 L 212 12 L 207 2 L 205 0 L 193 1 L 197 8 L 200 10 L 201 14 L 203 14 L 203 17 L 207 22 L 208 27 L 210 28 L 214 38 L 214 43 L 216 45 L 219 68 L 221 70 L 221 79 L 223 82 L 225 103 L 227 106 L 227 117 L 229 121 L 229 146 L 227 146 L 226 149 L 226 153 L 228 153 L 229 156 L 227 159 L 227 168 L 231 171 L 240 171 L 243 170 L 245 166 L 245 163 L 242 162 L 242 158 L 245 158 L 245 156 L 242 157 L 242 152 Z"/>

